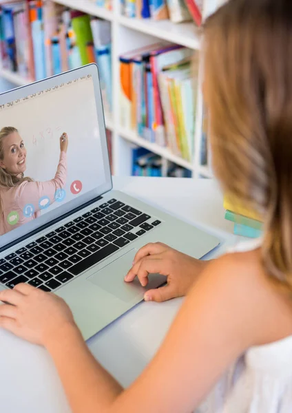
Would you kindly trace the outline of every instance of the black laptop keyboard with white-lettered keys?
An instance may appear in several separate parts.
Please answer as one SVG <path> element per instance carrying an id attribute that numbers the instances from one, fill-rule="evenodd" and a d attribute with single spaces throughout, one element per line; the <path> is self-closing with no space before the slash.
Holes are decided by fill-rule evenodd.
<path id="1" fill-rule="evenodd" d="M 59 288 L 161 222 L 112 199 L 0 260 L 0 283 Z"/>

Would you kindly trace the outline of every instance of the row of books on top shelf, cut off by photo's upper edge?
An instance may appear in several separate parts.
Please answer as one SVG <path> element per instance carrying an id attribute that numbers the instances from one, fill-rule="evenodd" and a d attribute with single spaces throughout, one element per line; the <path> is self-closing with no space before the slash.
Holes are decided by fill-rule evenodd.
<path id="1" fill-rule="evenodd" d="M 121 12 L 126 17 L 165 20 L 173 23 L 193 20 L 202 23 L 203 0 L 121 0 Z"/>

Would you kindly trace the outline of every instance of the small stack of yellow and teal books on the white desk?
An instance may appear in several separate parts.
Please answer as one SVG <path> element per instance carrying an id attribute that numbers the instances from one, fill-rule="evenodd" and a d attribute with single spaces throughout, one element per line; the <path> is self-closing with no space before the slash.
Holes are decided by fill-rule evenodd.
<path id="1" fill-rule="evenodd" d="M 225 197 L 224 207 L 225 219 L 234 223 L 235 235 L 249 238 L 258 238 L 262 235 L 263 224 L 257 214 L 244 209 L 238 202 L 231 201 L 228 197 Z"/>

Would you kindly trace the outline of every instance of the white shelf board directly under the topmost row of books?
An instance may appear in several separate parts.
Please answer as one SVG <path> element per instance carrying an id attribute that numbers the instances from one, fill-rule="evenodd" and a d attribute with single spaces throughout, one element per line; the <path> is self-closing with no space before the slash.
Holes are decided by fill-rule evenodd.
<path id="1" fill-rule="evenodd" d="M 177 43 L 194 50 L 200 49 L 198 29 L 192 22 L 171 23 L 170 20 L 130 19 L 125 16 L 119 16 L 118 22 L 127 28 L 150 34 L 159 39 Z"/>

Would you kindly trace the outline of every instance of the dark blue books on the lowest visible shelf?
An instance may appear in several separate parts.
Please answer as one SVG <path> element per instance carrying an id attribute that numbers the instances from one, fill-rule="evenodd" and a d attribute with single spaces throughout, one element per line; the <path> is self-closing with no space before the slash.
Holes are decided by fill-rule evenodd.
<path id="1" fill-rule="evenodd" d="M 171 176 L 174 178 L 191 178 L 191 171 L 169 162 L 163 171 L 160 156 L 144 148 L 132 149 L 132 176 Z"/>

